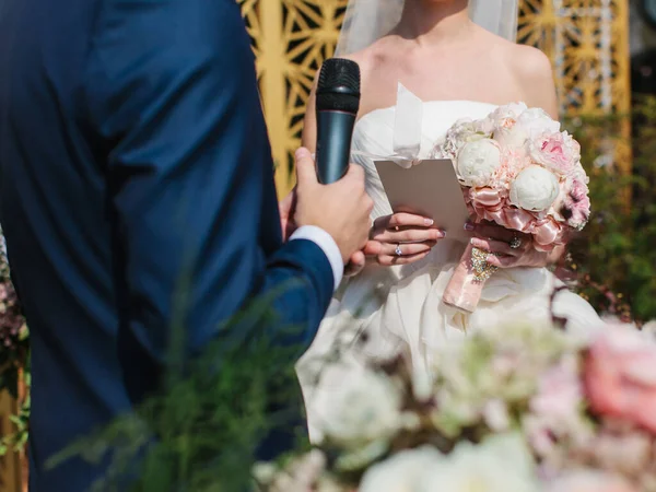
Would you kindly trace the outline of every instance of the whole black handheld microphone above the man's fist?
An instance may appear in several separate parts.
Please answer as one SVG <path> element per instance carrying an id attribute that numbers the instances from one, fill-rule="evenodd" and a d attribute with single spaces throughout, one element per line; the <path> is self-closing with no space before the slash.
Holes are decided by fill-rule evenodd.
<path id="1" fill-rule="evenodd" d="M 360 66 L 343 58 L 326 60 L 317 86 L 317 176 L 329 185 L 349 168 L 351 138 L 360 108 Z"/>

